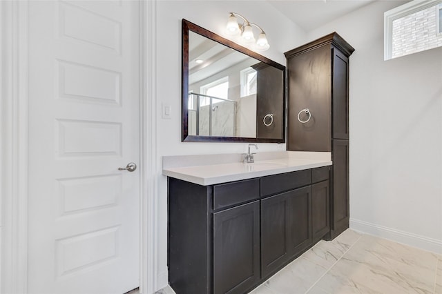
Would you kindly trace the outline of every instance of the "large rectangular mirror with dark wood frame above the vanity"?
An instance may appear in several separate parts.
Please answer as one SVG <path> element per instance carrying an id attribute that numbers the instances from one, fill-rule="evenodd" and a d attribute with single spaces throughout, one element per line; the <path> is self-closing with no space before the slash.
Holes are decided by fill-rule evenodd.
<path id="1" fill-rule="evenodd" d="M 285 66 L 182 20 L 182 141 L 285 141 Z"/>

